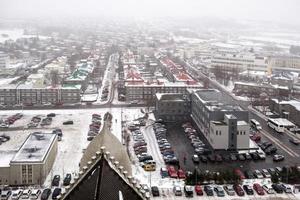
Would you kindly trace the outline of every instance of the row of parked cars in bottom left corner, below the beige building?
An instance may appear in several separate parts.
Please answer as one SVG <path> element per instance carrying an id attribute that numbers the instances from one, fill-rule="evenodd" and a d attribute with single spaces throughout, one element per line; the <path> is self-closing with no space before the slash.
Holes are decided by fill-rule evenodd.
<path id="1" fill-rule="evenodd" d="M 51 195 L 52 194 L 52 195 Z M 55 188 L 52 192 L 50 188 L 46 189 L 20 189 L 20 188 L 10 188 L 4 187 L 0 189 L 1 200 L 18 200 L 18 199 L 40 199 L 48 200 L 51 196 L 51 199 L 57 199 L 61 194 L 61 188 Z"/>

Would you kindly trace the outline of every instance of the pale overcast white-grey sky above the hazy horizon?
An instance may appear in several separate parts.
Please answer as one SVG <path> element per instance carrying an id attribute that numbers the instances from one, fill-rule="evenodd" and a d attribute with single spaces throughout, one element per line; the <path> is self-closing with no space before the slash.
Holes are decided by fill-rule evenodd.
<path id="1" fill-rule="evenodd" d="M 209 16 L 298 24 L 300 0 L 0 0 L 1 17 L 93 17 L 103 14 Z"/>

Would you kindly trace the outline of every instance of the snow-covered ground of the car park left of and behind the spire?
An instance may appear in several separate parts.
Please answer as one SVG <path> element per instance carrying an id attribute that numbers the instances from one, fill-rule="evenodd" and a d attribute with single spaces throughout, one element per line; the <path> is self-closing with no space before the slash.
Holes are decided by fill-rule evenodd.
<path id="1" fill-rule="evenodd" d="M 64 177 L 66 173 L 78 173 L 79 162 L 89 142 L 87 141 L 87 133 L 89 124 L 92 121 L 92 114 L 99 113 L 102 116 L 106 112 L 113 114 L 112 133 L 121 141 L 121 116 L 123 120 L 133 120 L 143 116 L 140 109 L 128 108 L 105 108 L 105 109 L 79 109 L 79 110 L 24 110 L 24 111 L 0 111 L 0 119 L 6 118 L 16 113 L 22 113 L 24 116 L 17 120 L 11 127 L 12 130 L 1 131 L 10 136 L 11 139 L 0 145 L 1 151 L 17 151 L 28 135 L 35 131 L 52 132 L 54 128 L 61 128 L 63 132 L 62 141 L 58 143 L 58 154 L 44 186 L 49 186 L 54 175 L 59 174 Z M 122 114 L 123 112 L 123 114 Z M 45 117 L 49 113 L 55 113 L 52 124 L 45 127 L 38 126 L 37 128 L 27 129 L 26 125 L 30 122 L 33 116 Z M 64 121 L 73 120 L 74 125 L 62 125 Z M 24 129 L 23 129 L 24 127 Z M 15 130 L 17 129 L 17 130 Z M 0 154 L 0 155 L 6 155 Z M 13 154 L 7 154 L 2 157 L 3 164 L 9 162 Z M 0 163 L 1 164 L 1 163 Z"/>

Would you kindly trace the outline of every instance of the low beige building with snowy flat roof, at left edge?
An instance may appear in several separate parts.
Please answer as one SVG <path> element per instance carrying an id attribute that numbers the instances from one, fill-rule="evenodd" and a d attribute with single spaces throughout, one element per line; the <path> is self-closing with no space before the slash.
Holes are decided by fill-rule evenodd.
<path id="1" fill-rule="evenodd" d="M 7 155 L 0 165 L 0 185 L 41 185 L 57 155 L 57 136 L 32 133 L 17 152 Z"/>

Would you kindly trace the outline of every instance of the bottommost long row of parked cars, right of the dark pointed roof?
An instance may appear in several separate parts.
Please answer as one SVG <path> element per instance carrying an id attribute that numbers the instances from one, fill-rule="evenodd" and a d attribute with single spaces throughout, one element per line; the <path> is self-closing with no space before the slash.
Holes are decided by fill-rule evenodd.
<path id="1" fill-rule="evenodd" d="M 189 186 L 185 185 L 182 191 L 180 186 L 174 186 L 173 192 L 175 196 L 182 196 L 183 193 L 186 197 L 193 197 L 194 192 L 197 196 L 203 196 L 204 193 L 207 196 L 218 196 L 224 197 L 228 196 L 245 196 L 246 194 L 251 196 L 257 193 L 262 196 L 265 194 L 282 194 L 282 193 L 292 193 L 292 187 L 287 184 L 265 184 L 261 185 L 259 183 L 254 183 L 253 185 L 195 185 Z M 154 196 L 154 195 L 153 195 Z"/>

